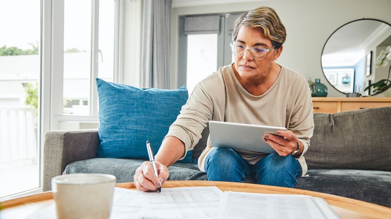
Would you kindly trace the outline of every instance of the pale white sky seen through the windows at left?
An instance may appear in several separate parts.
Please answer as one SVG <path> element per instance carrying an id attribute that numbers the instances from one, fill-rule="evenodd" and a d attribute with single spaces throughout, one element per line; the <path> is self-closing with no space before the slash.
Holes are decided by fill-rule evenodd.
<path id="1" fill-rule="evenodd" d="M 91 0 L 64 2 L 64 48 L 90 51 Z M 100 0 L 100 26 L 109 27 L 109 31 L 114 30 L 111 11 L 114 10 L 113 2 L 114 0 Z M 32 49 L 29 43 L 39 42 L 40 4 L 41 0 L 0 0 L 0 47 L 6 45 Z M 100 38 L 105 40 L 103 34 Z"/>

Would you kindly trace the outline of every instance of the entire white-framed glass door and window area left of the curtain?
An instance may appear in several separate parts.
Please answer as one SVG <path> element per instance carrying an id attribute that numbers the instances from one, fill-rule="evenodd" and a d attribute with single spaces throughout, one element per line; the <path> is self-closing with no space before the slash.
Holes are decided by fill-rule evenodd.
<path id="1" fill-rule="evenodd" d="M 0 200 L 39 192 L 45 132 L 98 120 L 95 78 L 118 78 L 121 5 L 0 1 Z"/>

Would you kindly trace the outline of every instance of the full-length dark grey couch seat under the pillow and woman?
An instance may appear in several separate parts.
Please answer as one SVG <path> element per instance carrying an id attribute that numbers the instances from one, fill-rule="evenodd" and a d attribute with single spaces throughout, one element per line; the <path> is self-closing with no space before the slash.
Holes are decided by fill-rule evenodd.
<path id="1" fill-rule="evenodd" d="M 93 158 L 66 166 L 64 173 L 106 173 L 117 177 L 117 183 L 133 182 L 136 168 L 145 160 Z M 197 164 L 175 163 L 169 167 L 168 180 L 208 180 Z M 391 172 L 371 170 L 308 170 L 309 177 L 297 178 L 296 189 L 305 189 L 368 201 L 391 207 Z M 245 182 L 255 183 L 253 177 Z"/>

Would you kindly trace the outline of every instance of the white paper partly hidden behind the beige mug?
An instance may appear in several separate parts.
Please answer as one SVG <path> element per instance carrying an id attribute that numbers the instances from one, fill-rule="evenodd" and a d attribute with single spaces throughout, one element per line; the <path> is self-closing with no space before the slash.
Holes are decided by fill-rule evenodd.
<path id="1" fill-rule="evenodd" d="M 110 219 L 138 219 L 142 208 L 140 192 L 115 187 Z M 56 205 L 50 205 L 30 214 L 27 219 L 56 219 Z"/>

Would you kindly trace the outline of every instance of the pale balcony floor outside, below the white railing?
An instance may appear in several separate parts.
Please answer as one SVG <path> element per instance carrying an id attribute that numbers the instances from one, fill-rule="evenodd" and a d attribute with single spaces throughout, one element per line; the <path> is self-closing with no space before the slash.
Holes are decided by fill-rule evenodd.
<path id="1" fill-rule="evenodd" d="M 0 198 L 38 187 L 38 164 L 0 169 Z"/>

